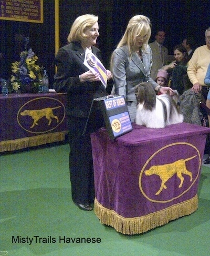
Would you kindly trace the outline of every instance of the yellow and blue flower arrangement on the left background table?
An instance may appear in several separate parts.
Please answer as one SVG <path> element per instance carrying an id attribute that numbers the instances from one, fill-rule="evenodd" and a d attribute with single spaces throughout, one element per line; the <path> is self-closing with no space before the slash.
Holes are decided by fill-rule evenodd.
<path id="1" fill-rule="evenodd" d="M 39 80 L 43 67 L 36 64 L 38 57 L 31 48 L 27 50 L 29 38 L 25 38 L 25 51 L 20 53 L 20 61 L 12 63 L 12 76 L 10 78 L 11 91 L 24 93 L 38 92 Z"/>

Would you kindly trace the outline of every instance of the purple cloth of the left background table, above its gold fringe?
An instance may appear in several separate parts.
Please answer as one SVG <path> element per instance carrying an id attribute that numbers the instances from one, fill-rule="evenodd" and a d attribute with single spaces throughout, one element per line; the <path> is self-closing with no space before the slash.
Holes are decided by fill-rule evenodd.
<path id="1" fill-rule="evenodd" d="M 9 94 L 0 95 L 0 142 L 40 134 L 67 131 L 66 94 Z M 33 117 L 21 115 L 25 110 L 52 109 L 51 123 L 46 116 L 33 125 Z M 57 116 L 57 119 L 55 118 Z"/>

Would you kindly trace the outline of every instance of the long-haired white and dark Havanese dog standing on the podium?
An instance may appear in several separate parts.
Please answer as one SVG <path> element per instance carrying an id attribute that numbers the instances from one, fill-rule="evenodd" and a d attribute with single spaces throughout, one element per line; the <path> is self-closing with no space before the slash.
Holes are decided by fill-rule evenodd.
<path id="1" fill-rule="evenodd" d="M 164 128 L 166 125 L 183 122 L 183 115 L 170 95 L 156 95 L 151 83 L 135 86 L 137 115 L 135 123 L 149 128 Z"/>

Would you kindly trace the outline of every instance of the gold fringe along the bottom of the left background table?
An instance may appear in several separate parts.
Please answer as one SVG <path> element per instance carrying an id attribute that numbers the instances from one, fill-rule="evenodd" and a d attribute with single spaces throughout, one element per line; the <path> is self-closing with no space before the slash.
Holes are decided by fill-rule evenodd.
<path id="1" fill-rule="evenodd" d="M 17 140 L 1 141 L 0 152 L 20 150 L 30 146 L 39 146 L 43 144 L 64 141 L 65 134 L 67 134 L 67 132 L 57 132 L 32 137 L 25 137 L 23 139 Z"/>

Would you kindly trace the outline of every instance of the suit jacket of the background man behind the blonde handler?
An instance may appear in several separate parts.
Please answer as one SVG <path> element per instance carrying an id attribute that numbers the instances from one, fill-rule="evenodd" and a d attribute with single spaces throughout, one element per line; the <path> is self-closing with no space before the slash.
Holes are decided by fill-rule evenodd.
<path id="1" fill-rule="evenodd" d="M 152 67 L 151 67 L 151 77 L 153 80 L 156 79 L 158 70 L 160 70 L 164 65 L 167 64 L 168 51 L 165 46 L 163 46 L 163 62 L 160 54 L 160 48 L 156 41 L 149 44 L 152 50 Z"/>

